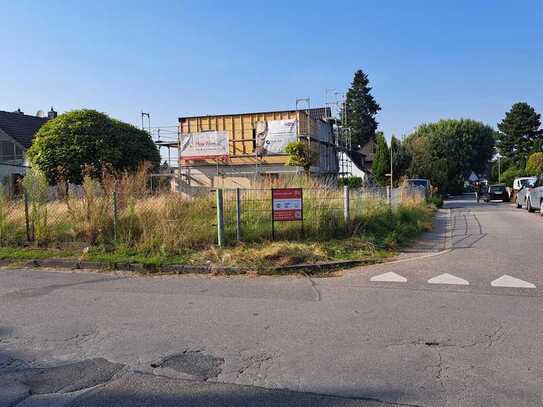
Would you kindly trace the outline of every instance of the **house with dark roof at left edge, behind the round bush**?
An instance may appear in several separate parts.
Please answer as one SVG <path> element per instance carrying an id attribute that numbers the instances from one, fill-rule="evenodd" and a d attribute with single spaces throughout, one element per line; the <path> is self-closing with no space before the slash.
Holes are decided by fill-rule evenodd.
<path id="1" fill-rule="evenodd" d="M 13 188 L 16 179 L 28 166 L 26 151 L 40 127 L 57 116 L 51 108 L 47 116 L 30 116 L 20 109 L 15 112 L 0 110 L 0 182 Z"/>

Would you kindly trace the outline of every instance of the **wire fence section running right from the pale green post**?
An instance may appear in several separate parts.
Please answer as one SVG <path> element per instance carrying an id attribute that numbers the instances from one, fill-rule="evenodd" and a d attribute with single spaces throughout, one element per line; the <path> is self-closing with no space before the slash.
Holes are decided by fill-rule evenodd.
<path id="1" fill-rule="evenodd" d="M 272 189 L 222 189 L 217 198 L 219 245 L 233 241 L 339 238 L 375 207 L 396 207 L 425 198 L 423 188 L 303 188 L 300 221 L 278 222 L 272 215 Z"/>

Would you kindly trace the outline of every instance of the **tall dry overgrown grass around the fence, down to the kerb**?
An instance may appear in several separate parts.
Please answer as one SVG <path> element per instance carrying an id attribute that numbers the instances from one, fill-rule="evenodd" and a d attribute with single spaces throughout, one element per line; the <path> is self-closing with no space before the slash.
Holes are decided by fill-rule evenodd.
<path id="1" fill-rule="evenodd" d="M 39 174 L 25 178 L 30 202 L 29 228 L 34 248 L 3 249 L 9 258 L 74 256 L 73 249 L 49 250 L 77 243 L 89 247 L 87 260 L 144 265 L 217 264 L 266 268 L 326 260 L 386 257 L 431 225 L 432 210 L 421 196 L 404 193 L 391 209 L 382 190 L 352 190 L 350 220 L 343 217 L 343 191 L 305 177 L 242 190 L 241 240 L 236 242 L 235 190 L 225 190 L 228 246 L 217 248 L 215 197 L 149 194 L 145 168 L 102 182 L 85 177 L 79 191 L 51 200 Z M 271 242 L 271 187 L 304 187 L 304 222 L 277 222 Z M 77 193 L 76 193 L 77 192 Z M 113 202 L 115 194 L 116 218 Z M 114 227 L 116 226 L 116 227 Z M 22 199 L 0 196 L 0 244 L 27 244 Z M 38 248 L 42 250 L 38 250 Z M 40 257 L 45 256 L 45 257 Z"/>

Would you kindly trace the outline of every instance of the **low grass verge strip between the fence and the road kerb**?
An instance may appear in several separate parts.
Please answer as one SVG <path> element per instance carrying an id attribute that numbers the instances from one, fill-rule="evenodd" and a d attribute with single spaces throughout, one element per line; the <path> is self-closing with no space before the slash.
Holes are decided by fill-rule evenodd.
<path id="1" fill-rule="evenodd" d="M 431 228 L 434 209 L 424 205 L 401 205 L 396 210 L 376 207 L 357 219 L 350 236 L 326 241 L 255 242 L 218 248 L 186 250 L 182 254 L 144 252 L 129 247 L 93 247 L 85 254 L 75 249 L 0 248 L 2 260 L 74 258 L 109 265 L 140 264 L 160 267 L 173 264 L 242 267 L 255 271 L 336 260 L 385 260 L 421 232 Z"/>

